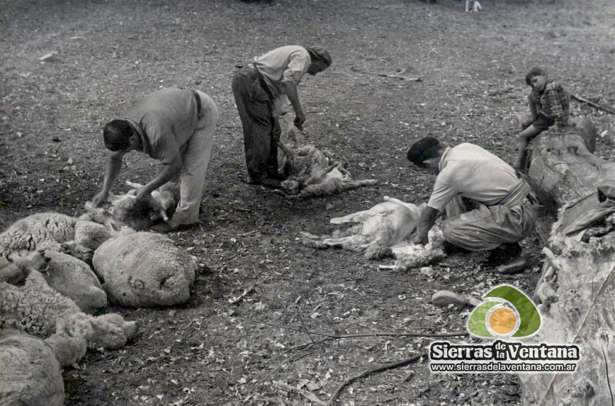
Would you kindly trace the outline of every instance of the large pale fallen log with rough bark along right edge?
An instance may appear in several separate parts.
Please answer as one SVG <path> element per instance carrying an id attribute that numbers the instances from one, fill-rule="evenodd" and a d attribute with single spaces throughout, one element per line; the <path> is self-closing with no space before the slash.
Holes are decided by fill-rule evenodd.
<path id="1" fill-rule="evenodd" d="M 565 227 L 599 206 L 596 183 L 615 178 L 615 164 L 588 150 L 596 131 L 588 120 L 572 130 L 536 138 L 529 181 L 541 202 L 559 208 L 543 252 L 547 256 L 534 301 L 541 329 L 528 341 L 577 344 L 574 373 L 519 375 L 524 405 L 615 405 L 615 232 L 581 242 Z"/>

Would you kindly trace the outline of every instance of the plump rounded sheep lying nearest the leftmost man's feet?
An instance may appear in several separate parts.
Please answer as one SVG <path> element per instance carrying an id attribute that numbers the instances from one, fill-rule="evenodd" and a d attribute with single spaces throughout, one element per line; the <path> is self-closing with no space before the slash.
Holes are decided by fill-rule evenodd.
<path id="1" fill-rule="evenodd" d="M 197 270 L 171 239 L 152 232 L 109 239 L 94 253 L 94 271 L 109 300 L 126 306 L 185 303 Z"/>

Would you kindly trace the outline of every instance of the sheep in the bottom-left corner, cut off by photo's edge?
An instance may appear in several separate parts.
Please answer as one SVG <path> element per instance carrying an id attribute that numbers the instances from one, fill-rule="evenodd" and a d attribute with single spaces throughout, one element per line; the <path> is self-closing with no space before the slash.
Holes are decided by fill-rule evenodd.
<path id="1" fill-rule="evenodd" d="M 42 340 L 0 330 L 0 405 L 64 405 L 62 366 L 85 352 L 81 337 L 53 334 Z"/>

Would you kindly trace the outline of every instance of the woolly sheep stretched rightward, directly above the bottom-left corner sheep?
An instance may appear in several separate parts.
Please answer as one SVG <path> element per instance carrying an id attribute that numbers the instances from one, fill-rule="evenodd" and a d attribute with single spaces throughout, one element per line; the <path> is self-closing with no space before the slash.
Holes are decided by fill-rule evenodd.
<path id="1" fill-rule="evenodd" d="M 64 333 L 84 337 L 91 348 L 117 349 L 136 333 L 135 322 L 120 315 L 92 317 L 70 298 L 51 288 L 45 277 L 28 269 L 23 286 L 0 283 L 0 328 L 13 328 L 46 338 Z"/>

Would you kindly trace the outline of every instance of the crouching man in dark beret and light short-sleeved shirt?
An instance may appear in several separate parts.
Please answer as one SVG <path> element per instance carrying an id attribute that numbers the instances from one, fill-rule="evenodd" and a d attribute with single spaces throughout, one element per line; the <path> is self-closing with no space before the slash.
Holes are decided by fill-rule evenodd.
<path id="1" fill-rule="evenodd" d="M 519 241 L 534 229 L 536 198 L 509 164 L 478 145 L 451 148 L 434 137 L 414 142 L 407 159 L 437 174 L 415 243 L 427 243 L 427 232 L 446 212 L 445 251 L 491 251 L 487 264 L 494 266 L 521 254 Z"/>

